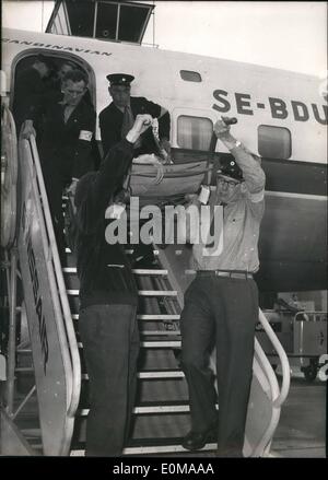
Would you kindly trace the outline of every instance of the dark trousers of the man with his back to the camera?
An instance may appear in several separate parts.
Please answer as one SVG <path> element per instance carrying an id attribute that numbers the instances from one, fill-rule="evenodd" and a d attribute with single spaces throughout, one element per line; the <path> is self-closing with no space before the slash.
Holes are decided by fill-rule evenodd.
<path id="1" fill-rule="evenodd" d="M 86 456 L 117 457 L 129 435 L 137 387 L 139 331 L 132 305 L 92 305 L 79 329 L 90 382 Z"/>

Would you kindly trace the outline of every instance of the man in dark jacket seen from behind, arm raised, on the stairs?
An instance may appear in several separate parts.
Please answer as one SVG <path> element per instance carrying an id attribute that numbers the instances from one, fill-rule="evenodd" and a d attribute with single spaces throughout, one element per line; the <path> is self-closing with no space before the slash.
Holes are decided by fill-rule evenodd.
<path id="1" fill-rule="evenodd" d="M 87 456 L 121 455 L 129 433 L 139 353 L 138 292 L 124 245 L 106 241 L 110 220 L 105 212 L 131 165 L 133 144 L 150 122 L 150 115 L 138 115 L 99 171 L 84 175 L 75 192 L 79 328 L 91 387 Z"/>

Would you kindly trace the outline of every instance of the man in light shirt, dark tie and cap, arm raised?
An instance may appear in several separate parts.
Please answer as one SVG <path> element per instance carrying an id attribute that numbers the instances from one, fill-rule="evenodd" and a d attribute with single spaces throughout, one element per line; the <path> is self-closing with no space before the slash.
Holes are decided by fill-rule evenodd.
<path id="1" fill-rule="evenodd" d="M 181 365 L 189 388 L 191 431 L 183 441 L 189 450 L 218 441 L 218 456 L 242 457 L 253 372 L 259 268 L 258 237 L 265 210 L 265 173 L 230 132 L 223 120 L 216 137 L 233 157 L 218 172 L 209 204 L 223 206 L 223 248 L 204 255 L 194 245 L 196 279 L 185 293 L 181 313 Z M 219 414 L 209 354 L 216 348 Z"/>

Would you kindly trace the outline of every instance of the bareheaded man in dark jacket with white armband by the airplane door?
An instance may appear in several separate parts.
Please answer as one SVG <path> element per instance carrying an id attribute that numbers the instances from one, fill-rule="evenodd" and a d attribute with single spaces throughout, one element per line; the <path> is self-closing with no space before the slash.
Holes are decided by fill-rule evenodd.
<path id="1" fill-rule="evenodd" d="M 91 141 L 95 129 L 95 110 L 82 98 L 87 78 L 71 70 L 62 80 L 61 93 L 39 97 L 26 113 L 22 134 L 36 134 L 34 125 L 42 118 L 42 138 L 37 147 L 48 195 L 58 250 L 63 259 L 62 190 L 70 185 L 74 192 L 78 179 L 93 169 Z"/>

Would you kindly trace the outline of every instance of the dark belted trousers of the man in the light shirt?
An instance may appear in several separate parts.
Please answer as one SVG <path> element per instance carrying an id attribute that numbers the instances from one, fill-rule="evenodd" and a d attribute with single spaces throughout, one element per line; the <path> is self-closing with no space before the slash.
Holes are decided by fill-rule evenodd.
<path id="1" fill-rule="evenodd" d="M 253 279 L 197 277 L 185 293 L 181 367 L 191 430 L 204 432 L 218 425 L 219 456 L 242 456 L 257 318 L 258 290 Z M 214 347 L 218 393 L 209 366 Z"/>

